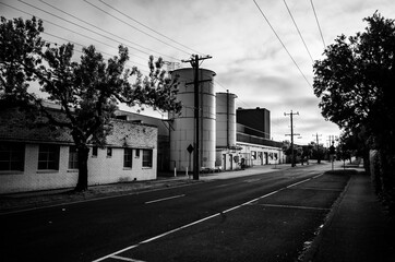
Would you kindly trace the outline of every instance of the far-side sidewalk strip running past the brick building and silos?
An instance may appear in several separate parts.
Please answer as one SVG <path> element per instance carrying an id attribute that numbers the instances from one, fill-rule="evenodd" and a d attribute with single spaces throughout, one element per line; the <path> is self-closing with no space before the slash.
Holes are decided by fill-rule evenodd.
<path id="1" fill-rule="evenodd" d="M 289 165 L 254 166 L 244 170 L 234 170 L 214 174 L 200 174 L 200 180 L 193 180 L 192 174 L 167 172 L 156 180 L 133 181 L 124 183 L 112 183 L 103 186 L 91 186 L 85 192 L 73 192 L 72 188 L 46 191 L 34 191 L 24 193 L 11 193 L 0 195 L 0 214 L 12 213 L 21 210 L 33 210 L 51 205 L 93 201 L 97 199 L 115 198 L 124 194 L 141 193 L 144 191 L 160 190 L 169 187 L 181 187 L 196 182 L 206 182 L 216 179 L 229 179 L 235 177 L 250 176 L 254 174 L 270 172 L 290 168 Z"/>

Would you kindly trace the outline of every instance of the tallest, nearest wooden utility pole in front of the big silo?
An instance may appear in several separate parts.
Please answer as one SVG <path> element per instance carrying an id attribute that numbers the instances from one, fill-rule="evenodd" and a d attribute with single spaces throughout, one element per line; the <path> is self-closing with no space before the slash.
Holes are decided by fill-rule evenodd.
<path id="1" fill-rule="evenodd" d="M 211 56 L 199 57 L 198 55 L 192 55 L 190 60 L 181 60 L 181 62 L 189 62 L 191 67 L 194 69 L 194 79 L 193 79 L 193 87 L 194 87 L 194 122 L 195 122 L 195 135 L 194 135 L 194 152 L 193 152 L 193 179 L 199 180 L 199 171 L 200 171 L 200 107 L 199 107 L 199 62 L 201 60 L 210 59 Z"/>

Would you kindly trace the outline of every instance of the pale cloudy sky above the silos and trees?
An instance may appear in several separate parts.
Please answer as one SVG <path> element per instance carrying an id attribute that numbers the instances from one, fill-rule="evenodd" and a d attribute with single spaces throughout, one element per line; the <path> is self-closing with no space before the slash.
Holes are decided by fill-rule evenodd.
<path id="1" fill-rule="evenodd" d="M 1 16 L 41 19 L 43 38 L 73 43 L 76 57 L 94 45 L 108 58 L 123 44 L 128 64 L 146 73 L 149 55 L 181 68 L 191 55 L 211 56 L 201 68 L 216 73 L 215 91 L 268 109 L 274 140 L 290 140 L 292 110 L 295 143 L 318 134 L 325 146 L 340 130 L 321 115 L 313 61 L 337 36 L 364 31 L 376 10 L 395 19 L 393 0 L 0 0 Z"/>

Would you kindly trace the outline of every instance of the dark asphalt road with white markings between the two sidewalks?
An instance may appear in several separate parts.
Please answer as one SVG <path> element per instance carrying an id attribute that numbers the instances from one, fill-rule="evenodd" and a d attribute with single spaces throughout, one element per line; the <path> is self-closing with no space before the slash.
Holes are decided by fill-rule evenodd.
<path id="1" fill-rule="evenodd" d="M 0 215 L 0 261 L 296 261 L 349 179 L 327 167 Z"/>

